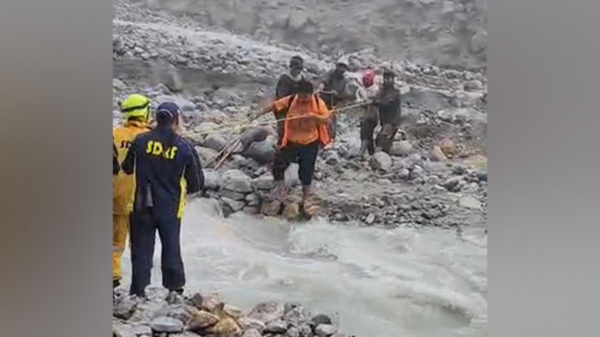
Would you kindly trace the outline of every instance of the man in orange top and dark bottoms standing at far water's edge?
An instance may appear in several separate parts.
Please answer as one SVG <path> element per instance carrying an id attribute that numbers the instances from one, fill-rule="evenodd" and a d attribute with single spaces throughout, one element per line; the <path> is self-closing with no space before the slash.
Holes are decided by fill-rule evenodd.
<path id="1" fill-rule="evenodd" d="M 262 113 L 287 110 L 280 151 L 275 154 L 273 177 L 275 197 L 283 201 L 286 195 L 284 174 L 292 161 L 298 159 L 298 175 L 302 183 L 302 205 L 305 213 L 312 213 L 310 201 L 314 166 L 320 146 L 331 142 L 327 125 L 331 112 L 325 102 L 313 94 L 313 84 L 307 80 L 298 83 L 298 95 L 281 98 L 267 106 Z"/>

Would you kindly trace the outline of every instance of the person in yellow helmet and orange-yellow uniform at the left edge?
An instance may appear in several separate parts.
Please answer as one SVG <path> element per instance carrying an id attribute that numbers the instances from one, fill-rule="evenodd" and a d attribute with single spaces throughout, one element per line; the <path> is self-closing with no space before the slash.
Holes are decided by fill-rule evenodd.
<path id="1" fill-rule="evenodd" d="M 118 168 L 133 139 L 150 131 L 150 100 L 139 94 L 129 95 L 121 103 L 121 112 L 127 120 L 121 127 L 113 128 L 113 151 L 116 152 L 113 153 L 113 288 L 121 283 L 121 257 L 127 242 L 133 197 L 133 177 L 119 172 Z"/>

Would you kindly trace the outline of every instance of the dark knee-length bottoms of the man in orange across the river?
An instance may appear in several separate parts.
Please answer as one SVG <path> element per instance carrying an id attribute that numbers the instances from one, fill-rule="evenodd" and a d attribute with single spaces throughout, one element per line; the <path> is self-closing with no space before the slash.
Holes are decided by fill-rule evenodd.
<path id="1" fill-rule="evenodd" d="M 273 163 L 273 178 L 275 181 L 284 180 L 287 167 L 293 161 L 298 160 L 300 182 L 302 186 L 310 185 L 313 182 L 314 164 L 317 160 L 319 144 L 318 141 L 308 145 L 287 143 L 283 149 L 277 151 Z"/>

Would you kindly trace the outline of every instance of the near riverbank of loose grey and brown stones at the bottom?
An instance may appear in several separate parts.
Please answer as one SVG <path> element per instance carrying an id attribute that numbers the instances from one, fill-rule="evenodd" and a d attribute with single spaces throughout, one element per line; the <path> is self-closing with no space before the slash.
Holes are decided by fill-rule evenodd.
<path id="1" fill-rule="evenodd" d="M 346 337 L 335 315 L 312 314 L 299 303 L 259 303 L 248 312 L 218 294 L 168 294 L 148 288 L 147 298 L 120 292 L 113 299 L 115 337 Z"/>

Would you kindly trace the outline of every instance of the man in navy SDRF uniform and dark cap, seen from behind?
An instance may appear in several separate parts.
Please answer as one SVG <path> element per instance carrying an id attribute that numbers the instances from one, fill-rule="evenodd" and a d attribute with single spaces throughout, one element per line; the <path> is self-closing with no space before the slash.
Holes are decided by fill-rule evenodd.
<path id="1" fill-rule="evenodd" d="M 139 297 L 145 296 L 150 284 L 156 231 L 162 245 L 163 286 L 183 293 L 185 272 L 179 240 L 185 195 L 200 192 L 204 186 L 196 151 L 176 133 L 177 104 L 160 104 L 156 119 L 155 130 L 136 137 L 122 164 L 125 173 L 135 171 L 130 293 Z"/>

